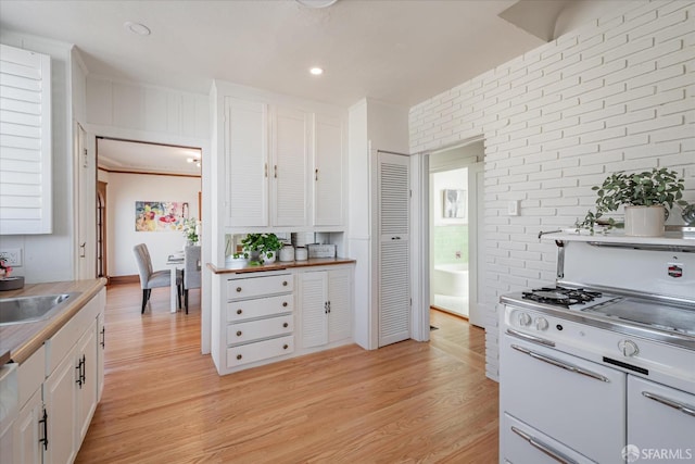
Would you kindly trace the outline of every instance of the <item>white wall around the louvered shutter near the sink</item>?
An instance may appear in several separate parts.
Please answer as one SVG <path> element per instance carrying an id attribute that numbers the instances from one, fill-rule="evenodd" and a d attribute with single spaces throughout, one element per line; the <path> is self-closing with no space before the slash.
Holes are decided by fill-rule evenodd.
<path id="1" fill-rule="evenodd" d="M 14 275 L 27 284 L 72 280 L 75 276 L 73 223 L 72 85 L 68 43 L 15 33 L 0 33 L 0 42 L 51 57 L 53 231 L 0 236 L 0 248 L 18 248 L 23 265 Z"/>

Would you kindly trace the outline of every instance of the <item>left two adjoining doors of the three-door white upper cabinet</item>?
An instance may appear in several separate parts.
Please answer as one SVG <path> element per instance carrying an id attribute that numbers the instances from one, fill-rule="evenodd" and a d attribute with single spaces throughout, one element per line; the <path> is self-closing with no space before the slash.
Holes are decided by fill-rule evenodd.
<path id="1" fill-rule="evenodd" d="M 307 222 L 308 114 L 225 99 L 228 227 Z"/>

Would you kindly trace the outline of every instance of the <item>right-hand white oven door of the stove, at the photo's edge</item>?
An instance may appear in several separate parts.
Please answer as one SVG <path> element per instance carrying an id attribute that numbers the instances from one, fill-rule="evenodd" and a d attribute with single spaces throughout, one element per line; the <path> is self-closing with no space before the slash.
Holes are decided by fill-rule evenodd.
<path id="1" fill-rule="evenodd" d="M 628 376 L 628 443 L 680 453 L 671 456 L 673 462 L 690 461 L 695 457 L 693 411 L 695 394 Z"/>

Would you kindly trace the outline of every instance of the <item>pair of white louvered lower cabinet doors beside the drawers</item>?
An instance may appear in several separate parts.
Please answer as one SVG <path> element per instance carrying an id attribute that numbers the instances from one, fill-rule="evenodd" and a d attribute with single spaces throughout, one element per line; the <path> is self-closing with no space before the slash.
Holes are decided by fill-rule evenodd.
<path id="1" fill-rule="evenodd" d="M 302 273 L 299 294 L 303 348 L 319 347 L 352 337 L 350 268 Z"/>

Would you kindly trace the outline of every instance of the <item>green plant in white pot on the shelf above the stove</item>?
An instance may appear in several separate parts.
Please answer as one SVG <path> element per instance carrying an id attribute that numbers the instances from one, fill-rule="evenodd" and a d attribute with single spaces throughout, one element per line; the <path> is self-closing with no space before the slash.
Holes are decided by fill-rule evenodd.
<path id="1" fill-rule="evenodd" d="M 664 222 L 668 214 L 666 206 L 673 204 L 684 206 L 683 179 L 675 171 L 666 167 L 653 168 L 635 174 L 619 171 L 606 177 L 601 186 L 592 187 L 598 196 L 596 209 L 589 211 L 584 221 L 577 224 L 587 227 L 594 234 L 594 225 L 602 224 L 608 228 L 616 226 L 612 217 L 599 221 L 604 214 L 617 211 L 620 205 L 626 211 L 626 235 L 640 237 L 658 237 L 664 235 Z"/>

